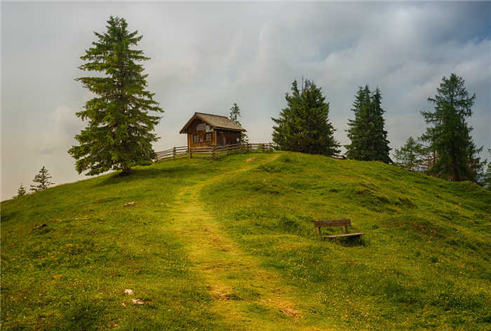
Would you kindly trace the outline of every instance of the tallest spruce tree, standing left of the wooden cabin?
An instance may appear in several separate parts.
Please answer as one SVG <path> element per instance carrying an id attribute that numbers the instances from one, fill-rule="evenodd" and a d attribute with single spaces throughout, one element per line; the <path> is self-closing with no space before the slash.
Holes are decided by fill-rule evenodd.
<path id="1" fill-rule="evenodd" d="M 104 75 L 76 79 L 98 95 L 76 113 L 82 121 L 88 120 L 88 126 L 75 136 L 80 145 L 68 151 L 76 158 L 76 171 L 88 170 L 86 175 L 119 169 L 128 175 L 131 167 L 151 163 L 156 158 L 152 142 L 159 139 L 151 132 L 160 117 L 148 112 L 163 112 L 153 100 L 154 93 L 145 90 L 148 75 L 135 63 L 149 58 L 142 50 L 130 48 L 142 36 L 128 32 L 123 18 L 111 16 L 107 23 L 107 32 L 94 32 L 98 41 L 86 50 L 81 59 L 88 62 L 79 67 Z"/>

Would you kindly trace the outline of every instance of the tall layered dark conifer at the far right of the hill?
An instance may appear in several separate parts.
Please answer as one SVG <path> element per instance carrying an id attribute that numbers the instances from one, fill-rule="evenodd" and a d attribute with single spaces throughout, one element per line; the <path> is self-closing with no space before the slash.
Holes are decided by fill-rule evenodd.
<path id="1" fill-rule="evenodd" d="M 426 128 L 421 139 L 435 154 L 427 171 L 429 175 L 455 182 L 476 182 L 484 166 L 478 157 L 483 147 L 476 148 L 471 137 L 473 128 L 466 122 L 472 115 L 476 93 L 469 97 L 464 83 L 456 74 L 450 74 L 448 79 L 443 77 L 440 88 L 436 89 L 438 95 L 428 98 L 428 102 L 435 104 L 435 112 L 421 112 L 426 124 L 433 125 Z"/>

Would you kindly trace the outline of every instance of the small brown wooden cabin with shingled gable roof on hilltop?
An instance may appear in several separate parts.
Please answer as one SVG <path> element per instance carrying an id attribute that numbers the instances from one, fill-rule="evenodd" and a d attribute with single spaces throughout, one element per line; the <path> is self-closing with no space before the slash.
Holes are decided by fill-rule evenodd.
<path id="1" fill-rule="evenodd" d="M 220 147 L 241 142 L 244 128 L 226 116 L 194 113 L 179 133 L 187 134 L 187 147 Z"/>

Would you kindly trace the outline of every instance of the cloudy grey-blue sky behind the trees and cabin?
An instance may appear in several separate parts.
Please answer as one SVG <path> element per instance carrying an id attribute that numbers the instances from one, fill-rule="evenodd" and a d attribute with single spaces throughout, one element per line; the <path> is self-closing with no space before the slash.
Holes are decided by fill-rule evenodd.
<path id="1" fill-rule="evenodd" d="M 378 86 L 389 147 L 426 130 L 421 111 L 443 76 L 476 93 L 473 141 L 491 160 L 491 1 L 1 1 L 0 200 L 29 188 L 45 166 L 51 182 L 78 175 L 67 151 L 87 123 L 92 95 L 74 79 L 109 16 L 143 38 L 135 49 L 165 111 L 154 149 L 185 146 L 194 112 L 229 116 L 237 103 L 250 142 L 271 142 L 271 117 L 302 77 L 330 103 L 335 139 L 359 86 Z M 156 115 L 156 114 L 154 114 Z M 344 151 L 344 149 L 343 149 Z"/>

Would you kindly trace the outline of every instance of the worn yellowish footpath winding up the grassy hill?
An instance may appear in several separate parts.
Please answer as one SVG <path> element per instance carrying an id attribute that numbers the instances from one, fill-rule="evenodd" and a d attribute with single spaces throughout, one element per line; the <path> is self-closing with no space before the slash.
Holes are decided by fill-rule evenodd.
<path id="1" fill-rule="evenodd" d="M 262 268 L 206 212 L 199 192 L 208 182 L 181 189 L 170 215 L 173 230 L 186 242 L 191 269 L 215 297 L 213 313 L 229 330 L 315 330 L 302 327 L 295 289 L 278 285 L 280 276 Z"/>

